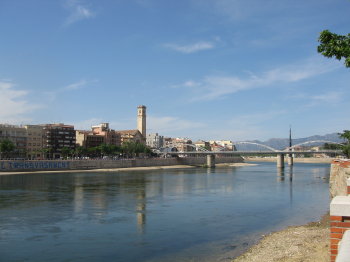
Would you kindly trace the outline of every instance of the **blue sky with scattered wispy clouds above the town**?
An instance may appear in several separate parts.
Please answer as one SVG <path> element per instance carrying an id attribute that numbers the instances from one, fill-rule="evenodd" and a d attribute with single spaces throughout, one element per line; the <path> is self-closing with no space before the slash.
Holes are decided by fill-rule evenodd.
<path id="1" fill-rule="evenodd" d="M 348 0 L 0 0 L 0 123 L 233 141 L 350 129 Z"/>

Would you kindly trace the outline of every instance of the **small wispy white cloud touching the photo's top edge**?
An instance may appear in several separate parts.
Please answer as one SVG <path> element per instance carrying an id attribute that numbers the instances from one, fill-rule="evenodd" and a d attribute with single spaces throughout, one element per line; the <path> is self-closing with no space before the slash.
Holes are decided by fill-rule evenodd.
<path id="1" fill-rule="evenodd" d="M 67 0 L 66 7 L 70 12 L 70 15 L 64 22 L 66 26 L 84 19 L 93 18 L 96 15 L 81 0 Z"/>

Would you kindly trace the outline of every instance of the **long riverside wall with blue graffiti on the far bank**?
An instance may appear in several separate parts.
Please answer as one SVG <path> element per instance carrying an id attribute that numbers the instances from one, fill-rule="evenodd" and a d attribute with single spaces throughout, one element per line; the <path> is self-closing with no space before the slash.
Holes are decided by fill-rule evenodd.
<path id="1" fill-rule="evenodd" d="M 216 163 L 241 163 L 240 156 L 217 157 Z M 193 165 L 203 166 L 206 157 L 140 158 L 121 160 L 0 160 L 0 172 L 45 171 L 45 170 L 89 170 L 129 167 Z"/>

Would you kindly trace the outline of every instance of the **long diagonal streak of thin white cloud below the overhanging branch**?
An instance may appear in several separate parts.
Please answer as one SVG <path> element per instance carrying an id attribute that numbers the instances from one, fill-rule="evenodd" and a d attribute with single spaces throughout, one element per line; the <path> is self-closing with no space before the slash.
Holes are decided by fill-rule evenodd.
<path id="1" fill-rule="evenodd" d="M 279 67 L 260 75 L 250 73 L 248 77 L 207 76 L 200 81 L 189 80 L 182 85 L 196 92 L 192 101 L 213 100 L 239 91 L 271 87 L 277 83 L 291 83 L 321 75 L 339 68 L 338 64 L 319 58 L 311 58 L 298 64 Z"/>

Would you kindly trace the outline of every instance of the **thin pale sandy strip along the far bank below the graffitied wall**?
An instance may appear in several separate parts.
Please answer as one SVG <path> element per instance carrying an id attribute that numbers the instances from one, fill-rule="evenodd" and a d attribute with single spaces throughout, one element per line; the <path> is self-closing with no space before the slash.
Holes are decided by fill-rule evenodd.
<path id="1" fill-rule="evenodd" d="M 216 164 L 216 167 L 241 167 L 241 166 L 254 166 L 256 164 L 250 163 L 222 163 Z M 55 171 L 30 171 L 30 172 L 0 172 L 1 175 L 18 175 L 18 174 L 48 174 L 48 173 L 81 173 L 81 172 L 121 172 L 121 171 L 148 171 L 148 170 L 164 170 L 164 169 L 187 169 L 187 168 L 200 168 L 198 166 L 190 165 L 174 165 L 174 166 L 150 166 L 150 167 L 126 167 L 126 168 L 108 168 L 108 169 L 83 169 L 83 170 L 55 170 Z"/>

